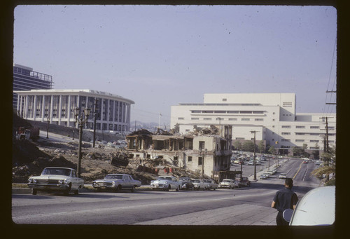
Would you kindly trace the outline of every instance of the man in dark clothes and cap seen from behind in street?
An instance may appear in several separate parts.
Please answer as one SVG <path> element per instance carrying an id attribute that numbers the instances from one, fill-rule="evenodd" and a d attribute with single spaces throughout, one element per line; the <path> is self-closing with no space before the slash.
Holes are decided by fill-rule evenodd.
<path id="1" fill-rule="evenodd" d="M 284 186 L 286 187 L 285 189 L 276 192 L 271 204 L 271 207 L 279 211 L 276 217 L 277 226 L 288 226 L 288 221 L 283 219 L 283 211 L 288 208 L 295 210 L 298 200 L 297 194 L 292 191 L 293 179 L 286 178 Z"/>

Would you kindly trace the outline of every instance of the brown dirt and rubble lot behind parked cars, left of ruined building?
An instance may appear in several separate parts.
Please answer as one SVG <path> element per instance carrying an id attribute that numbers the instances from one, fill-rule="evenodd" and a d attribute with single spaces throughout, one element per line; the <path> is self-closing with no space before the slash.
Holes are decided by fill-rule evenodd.
<path id="1" fill-rule="evenodd" d="M 78 164 L 78 143 L 50 142 L 46 139 L 31 140 L 15 139 L 15 130 L 19 126 L 31 126 L 31 123 L 18 116 L 13 115 L 13 160 L 12 160 L 12 181 L 13 183 L 27 183 L 31 175 L 40 175 L 45 167 L 68 167 L 77 168 Z M 65 132 L 62 131 L 62 135 Z M 165 172 L 161 167 L 174 168 L 169 175 L 176 177 L 198 178 L 194 172 L 185 171 L 172 165 L 167 165 L 159 160 L 125 158 L 126 151 L 105 146 L 104 148 L 92 148 L 91 144 L 83 144 L 81 160 L 81 177 L 85 184 L 90 184 L 94 179 L 101 179 L 109 173 L 127 173 L 134 179 L 139 179 L 142 184 L 151 184 L 151 180 L 158 176 L 155 168 L 158 168 L 159 175 Z M 127 162 L 125 165 L 112 165 L 111 162 L 122 158 Z M 146 168 L 147 167 L 147 168 Z"/>

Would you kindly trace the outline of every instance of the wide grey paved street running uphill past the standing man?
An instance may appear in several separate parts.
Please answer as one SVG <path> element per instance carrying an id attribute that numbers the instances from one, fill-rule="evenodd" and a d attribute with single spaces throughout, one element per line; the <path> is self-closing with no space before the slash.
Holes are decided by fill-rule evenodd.
<path id="1" fill-rule="evenodd" d="M 290 159 L 271 178 L 233 190 L 13 194 L 12 218 L 16 224 L 275 225 L 270 205 L 283 188 L 279 173 L 294 178 L 301 198 L 319 184 L 309 175 L 315 167 Z"/>

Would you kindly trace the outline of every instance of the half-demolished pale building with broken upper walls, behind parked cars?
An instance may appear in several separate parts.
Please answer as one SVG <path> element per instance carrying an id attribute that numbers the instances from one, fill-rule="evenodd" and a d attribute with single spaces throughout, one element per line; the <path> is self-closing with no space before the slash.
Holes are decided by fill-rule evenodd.
<path id="1" fill-rule="evenodd" d="M 162 158 L 174 168 L 199 172 L 218 180 L 221 171 L 230 170 L 232 126 L 211 125 L 186 135 L 139 130 L 127 135 L 127 148 L 134 158 Z"/>

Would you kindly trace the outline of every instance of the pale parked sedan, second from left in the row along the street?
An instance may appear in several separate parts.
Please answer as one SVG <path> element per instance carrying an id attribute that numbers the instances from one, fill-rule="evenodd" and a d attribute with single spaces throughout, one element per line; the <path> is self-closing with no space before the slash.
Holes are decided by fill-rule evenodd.
<path id="1" fill-rule="evenodd" d="M 97 179 L 92 182 L 92 187 L 97 191 L 105 189 L 118 192 L 122 189 L 130 189 L 134 192 L 135 188 L 139 186 L 141 186 L 141 182 L 127 174 L 109 174 L 104 179 Z"/>

